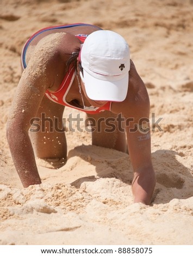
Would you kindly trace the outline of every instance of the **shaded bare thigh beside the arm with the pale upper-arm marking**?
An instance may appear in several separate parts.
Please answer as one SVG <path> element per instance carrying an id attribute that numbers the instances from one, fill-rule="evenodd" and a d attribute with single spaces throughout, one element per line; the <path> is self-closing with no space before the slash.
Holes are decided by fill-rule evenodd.
<path id="1" fill-rule="evenodd" d="M 93 145 L 127 152 L 124 122 L 120 117 L 109 111 L 103 111 L 99 114 L 88 114 L 88 120 L 92 126 Z"/>

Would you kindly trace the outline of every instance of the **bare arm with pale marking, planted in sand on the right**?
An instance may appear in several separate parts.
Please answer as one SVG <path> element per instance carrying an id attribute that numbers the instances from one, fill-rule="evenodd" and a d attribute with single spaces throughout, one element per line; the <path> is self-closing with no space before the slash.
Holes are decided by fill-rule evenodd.
<path id="1" fill-rule="evenodd" d="M 132 182 L 134 202 L 149 205 L 155 187 L 155 173 L 151 159 L 150 124 L 147 123 L 150 114 L 150 101 L 145 84 L 136 72 L 133 62 L 131 62 L 129 71 L 126 100 L 115 105 L 114 112 L 122 113 L 127 120 L 127 144 L 134 172 Z"/>

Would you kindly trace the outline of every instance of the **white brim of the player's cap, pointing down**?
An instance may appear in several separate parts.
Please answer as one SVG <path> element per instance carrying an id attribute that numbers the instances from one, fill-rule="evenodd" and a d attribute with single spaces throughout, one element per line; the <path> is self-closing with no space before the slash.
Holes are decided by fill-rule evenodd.
<path id="1" fill-rule="evenodd" d="M 120 80 L 99 80 L 88 74 L 84 69 L 84 86 L 86 94 L 91 100 L 123 101 L 126 99 L 129 73 Z"/>

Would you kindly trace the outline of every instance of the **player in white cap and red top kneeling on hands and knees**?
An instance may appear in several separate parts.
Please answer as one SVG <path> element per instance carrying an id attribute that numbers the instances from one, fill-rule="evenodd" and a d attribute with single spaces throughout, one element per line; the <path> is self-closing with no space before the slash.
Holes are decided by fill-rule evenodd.
<path id="1" fill-rule="evenodd" d="M 51 168 L 66 163 L 65 132 L 46 127 L 29 132 L 33 118 L 57 118 L 62 126 L 65 106 L 84 111 L 88 117 L 123 119 L 107 132 L 92 132 L 92 144 L 126 152 L 134 176 L 134 202 L 150 204 L 155 186 L 148 123 L 150 101 L 129 57 L 121 35 L 89 24 L 43 28 L 32 35 L 22 51 L 22 76 L 7 124 L 7 138 L 24 187 L 40 184 L 35 157 Z M 127 121 L 125 121 L 127 120 Z M 52 124 L 51 122 L 49 124 Z M 53 126 L 54 126 L 53 122 Z M 52 128 L 52 129 L 51 129 Z M 83 142 L 84 143 L 84 142 Z"/>

